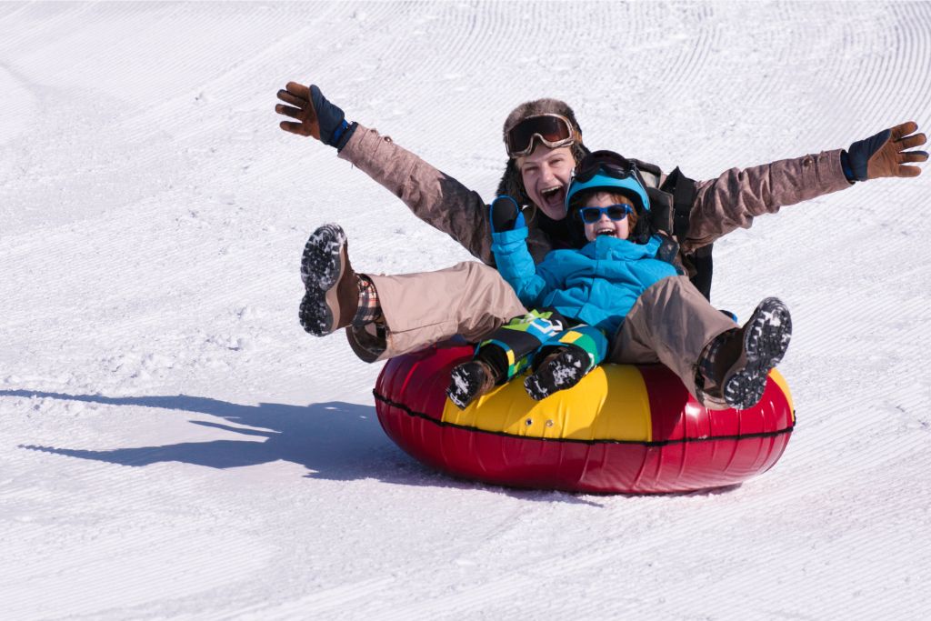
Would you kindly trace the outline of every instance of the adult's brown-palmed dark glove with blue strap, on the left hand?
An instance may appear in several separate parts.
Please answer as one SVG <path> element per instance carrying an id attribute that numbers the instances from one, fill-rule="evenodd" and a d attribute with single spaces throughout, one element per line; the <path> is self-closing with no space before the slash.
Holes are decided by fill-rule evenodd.
<path id="1" fill-rule="evenodd" d="M 327 101 L 317 85 L 312 84 L 307 88 L 303 84 L 289 82 L 287 87 L 278 91 L 278 99 L 294 107 L 279 103 L 275 106 L 275 111 L 279 115 L 290 116 L 300 121 L 282 121 L 282 129 L 301 136 L 313 136 L 324 144 L 336 147 L 337 150 L 349 142 L 349 137 L 358 127 L 357 123 L 350 125 L 346 122 L 343 110 Z"/>

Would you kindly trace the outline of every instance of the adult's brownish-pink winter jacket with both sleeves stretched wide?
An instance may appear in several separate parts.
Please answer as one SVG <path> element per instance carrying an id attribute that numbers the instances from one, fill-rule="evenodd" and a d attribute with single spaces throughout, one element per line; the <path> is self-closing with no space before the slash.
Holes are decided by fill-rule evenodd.
<path id="1" fill-rule="evenodd" d="M 339 156 L 398 196 L 425 223 L 451 236 L 483 263 L 493 264 L 488 208 L 478 193 L 376 129 L 361 125 Z M 658 182 L 664 180 L 665 175 Z M 759 215 L 850 184 L 843 176 L 840 149 L 726 170 L 717 179 L 698 182 L 681 250 L 692 252 L 735 228 L 749 228 Z M 533 223 L 527 245 L 537 263 L 552 250 L 546 234 Z"/>

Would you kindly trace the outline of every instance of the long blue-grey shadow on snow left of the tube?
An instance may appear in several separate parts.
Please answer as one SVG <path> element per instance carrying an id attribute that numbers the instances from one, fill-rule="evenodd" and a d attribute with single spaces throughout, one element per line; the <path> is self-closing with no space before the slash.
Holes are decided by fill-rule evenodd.
<path id="1" fill-rule="evenodd" d="M 105 397 L 70 395 L 33 390 L 0 390 L 0 397 L 52 398 L 111 406 L 134 406 L 196 412 L 223 418 L 234 425 L 191 421 L 231 431 L 250 440 L 215 439 L 164 446 L 94 451 L 21 444 L 20 448 L 78 457 L 121 466 L 149 466 L 179 462 L 212 468 L 258 466 L 287 461 L 306 467 L 313 479 L 379 479 L 404 485 L 490 489 L 525 500 L 590 503 L 567 493 L 517 490 L 452 479 L 421 465 L 393 444 L 378 423 L 372 406 L 331 401 L 309 406 L 282 403 L 242 405 L 214 398 L 187 395 L 152 397 Z M 253 427 L 253 428 L 250 428 Z M 257 428 L 255 428 L 257 427 Z M 255 441 L 254 438 L 264 439 Z"/>

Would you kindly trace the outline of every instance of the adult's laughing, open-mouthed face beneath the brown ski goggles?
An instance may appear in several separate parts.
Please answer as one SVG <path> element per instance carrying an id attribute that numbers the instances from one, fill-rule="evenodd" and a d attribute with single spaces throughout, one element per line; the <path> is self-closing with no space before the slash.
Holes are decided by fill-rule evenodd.
<path id="1" fill-rule="evenodd" d="M 553 220 L 566 217 L 566 188 L 575 168 L 572 147 L 550 149 L 537 144 L 531 155 L 517 160 L 527 196 Z"/>

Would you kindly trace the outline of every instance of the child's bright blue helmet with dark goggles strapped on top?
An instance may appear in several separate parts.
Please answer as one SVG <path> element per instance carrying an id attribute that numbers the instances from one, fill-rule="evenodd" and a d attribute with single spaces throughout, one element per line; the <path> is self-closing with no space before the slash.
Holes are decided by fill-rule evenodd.
<path id="1" fill-rule="evenodd" d="M 638 214 L 650 210 L 650 197 L 637 166 L 614 151 L 595 151 L 578 163 L 566 191 L 566 213 L 579 207 L 584 196 L 599 190 L 627 196 Z"/>

